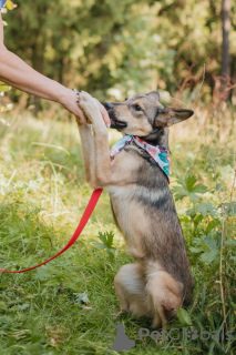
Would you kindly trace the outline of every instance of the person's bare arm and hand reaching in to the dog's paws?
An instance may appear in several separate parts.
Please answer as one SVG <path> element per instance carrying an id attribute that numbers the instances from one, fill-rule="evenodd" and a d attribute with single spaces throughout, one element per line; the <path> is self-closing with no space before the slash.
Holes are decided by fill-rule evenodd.
<path id="1" fill-rule="evenodd" d="M 22 61 L 18 55 L 10 52 L 3 42 L 3 24 L 0 11 L 0 81 L 20 89 L 37 97 L 57 101 L 66 110 L 76 115 L 81 122 L 85 122 L 83 111 L 78 104 L 76 92 L 51 80 Z M 109 114 L 104 106 L 99 102 L 100 111 L 106 124 L 110 123 Z"/>

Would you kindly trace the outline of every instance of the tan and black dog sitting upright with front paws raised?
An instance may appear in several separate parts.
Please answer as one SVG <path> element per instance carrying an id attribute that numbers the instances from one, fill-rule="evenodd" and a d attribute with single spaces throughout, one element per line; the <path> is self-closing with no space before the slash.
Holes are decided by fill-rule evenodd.
<path id="1" fill-rule="evenodd" d="M 111 128 L 130 140 L 111 159 L 107 129 L 94 99 L 82 91 L 79 104 L 91 123 L 79 123 L 86 181 L 110 193 L 114 221 L 135 260 L 114 278 L 121 314 L 147 316 L 154 328 L 165 327 L 178 307 L 191 303 L 194 280 L 167 175 L 137 142 L 166 154 L 168 128 L 194 112 L 164 108 L 156 91 L 106 102 Z"/>

